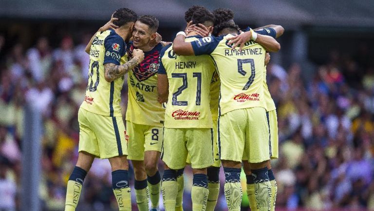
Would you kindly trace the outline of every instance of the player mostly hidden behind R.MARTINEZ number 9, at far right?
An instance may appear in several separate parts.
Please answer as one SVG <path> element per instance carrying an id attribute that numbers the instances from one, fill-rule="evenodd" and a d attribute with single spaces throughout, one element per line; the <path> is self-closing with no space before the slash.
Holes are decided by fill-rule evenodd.
<path id="1" fill-rule="evenodd" d="M 279 25 L 267 25 L 263 26 L 257 29 L 254 29 L 254 31 L 258 32 L 259 30 L 263 30 L 264 28 L 273 28 L 277 35 L 276 38 L 279 38 L 283 32 L 284 28 Z M 250 28 L 247 28 L 243 31 L 249 31 Z M 231 44 L 231 42 L 234 42 L 235 45 L 241 46 L 245 42 L 250 40 L 250 33 L 242 33 L 240 35 L 237 35 L 235 37 L 229 38 L 230 42 L 228 44 Z M 270 55 L 269 53 L 266 53 L 265 57 L 265 65 L 269 63 L 270 61 Z M 264 98 L 266 101 L 266 113 L 267 113 L 267 119 L 269 124 L 269 131 L 270 131 L 270 146 L 271 146 L 271 159 L 277 159 L 278 158 L 278 122 L 277 122 L 277 112 L 274 100 L 271 98 L 267 83 L 266 83 L 266 66 L 264 71 L 264 80 L 263 80 L 263 88 L 264 88 Z M 271 183 L 271 204 L 270 204 L 270 210 L 275 211 L 275 202 L 277 197 L 277 181 L 275 180 L 274 173 L 271 169 L 270 160 L 267 163 L 268 168 L 268 176 Z M 243 154 L 243 169 L 247 177 L 247 195 L 249 199 L 249 206 L 251 208 L 251 211 L 257 211 L 257 203 L 256 203 L 256 193 L 255 193 L 255 184 L 254 179 L 250 170 L 250 166 L 248 163 L 248 160 L 246 158 L 245 153 Z"/>

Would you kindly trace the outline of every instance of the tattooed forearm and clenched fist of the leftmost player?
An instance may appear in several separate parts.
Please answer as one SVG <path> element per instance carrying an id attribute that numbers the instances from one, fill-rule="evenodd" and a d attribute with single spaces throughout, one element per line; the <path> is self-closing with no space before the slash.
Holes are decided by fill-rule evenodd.
<path id="1" fill-rule="evenodd" d="M 125 75 L 129 70 L 133 69 L 136 65 L 142 62 L 144 59 L 144 53 L 140 49 L 134 49 L 132 51 L 132 58 L 122 65 L 115 65 L 113 63 L 106 63 L 104 64 L 104 77 L 105 80 L 108 82 L 112 82 L 113 80 L 122 77 Z"/>

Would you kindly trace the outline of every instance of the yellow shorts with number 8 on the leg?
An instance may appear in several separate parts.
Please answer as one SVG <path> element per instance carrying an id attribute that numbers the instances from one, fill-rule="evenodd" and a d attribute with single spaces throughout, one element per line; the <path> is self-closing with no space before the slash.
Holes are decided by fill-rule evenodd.
<path id="1" fill-rule="evenodd" d="M 145 151 L 161 152 L 164 134 L 163 127 L 139 125 L 126 121 L 126 134 L 129 135 L 129 160 L 144 160 Z"/>

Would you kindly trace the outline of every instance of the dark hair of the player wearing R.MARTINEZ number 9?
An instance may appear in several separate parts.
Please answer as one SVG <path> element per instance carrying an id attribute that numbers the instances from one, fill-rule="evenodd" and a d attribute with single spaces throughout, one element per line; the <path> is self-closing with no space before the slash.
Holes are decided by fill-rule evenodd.
<path id="1" fill-rule="evenodd" d="M 234 12 L 228 8 L 218 8 L 213 11 L 214 15 L 214 31 L 213 35 L 218 36 L 218 33 L 224 28 L 231 28 L 239 31 L 240 28 L 234 22 Z"/>

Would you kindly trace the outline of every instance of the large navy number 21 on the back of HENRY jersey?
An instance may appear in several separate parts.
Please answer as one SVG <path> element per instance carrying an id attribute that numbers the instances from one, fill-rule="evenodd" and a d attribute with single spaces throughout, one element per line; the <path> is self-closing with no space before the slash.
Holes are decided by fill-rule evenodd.
<path id="1" fill-rule="evenodd" d="M 187 73 L 172 73 L 171 77 L 180 77 L 182 78 L 183 84 L 178 88 L 176 92 L 173 93 L 173 98 L 172 98 L 172 105 L 177 105 L 177 106 L 187 106 L 188 102 L 187 101 L 178 101 L 177 97 L 182 94 L 182 91 L 187 89 L 188 84 L 187 84 Z M 201 73 L 192 73 L 192 77 L 196 77 L 197 79 L 197 84 L 196 84 L 196 105 L 200 105 L 201 103 Z"/>

